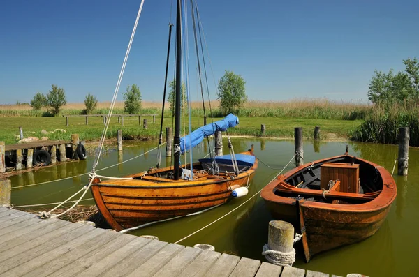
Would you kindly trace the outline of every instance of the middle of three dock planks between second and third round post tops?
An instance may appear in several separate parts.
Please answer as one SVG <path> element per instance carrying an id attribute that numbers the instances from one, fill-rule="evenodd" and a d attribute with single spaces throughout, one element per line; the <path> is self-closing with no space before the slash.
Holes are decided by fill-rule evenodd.
<path id="1" fill-rule="evenodd" d="M 167 264 L 168 261 L 172 259 L 177 253 L 179 253 L 184 246 L 179 246 L 179 244 L 168 244 L 163 247 L 156 255 L 147 260 L 140 267 L 135 269 L 128 276 L 130 277 L 145 277 L 145 276 L 154 276 L 154 274 Z"/>

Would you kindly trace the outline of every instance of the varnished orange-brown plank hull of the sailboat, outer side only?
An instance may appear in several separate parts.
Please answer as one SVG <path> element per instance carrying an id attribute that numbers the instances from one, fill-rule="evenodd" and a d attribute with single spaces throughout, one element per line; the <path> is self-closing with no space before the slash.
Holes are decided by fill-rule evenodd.
<path id="1" fill-rule="evenodd" d="M 163 182 L 158 178 L 157 181 L 110 180 L 92 184 L 91 192 L 101 214 L 113 229 L 119 231 L 223 204 L 231 195 L 231 187 L 247 186 L 257 167 L 256 160 L 247 172 L 233 178 L 212 176 L 198 181 Z"/>

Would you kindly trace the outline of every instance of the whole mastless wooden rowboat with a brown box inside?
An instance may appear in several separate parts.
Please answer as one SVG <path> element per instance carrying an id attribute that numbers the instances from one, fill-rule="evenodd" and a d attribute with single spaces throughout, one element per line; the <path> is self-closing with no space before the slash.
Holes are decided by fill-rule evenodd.
<path id="1" fill-rule="evenodd" d="M 296 167 L 260 193 L 278 220 L 302 232 L 306 261 L 312 255 L 372 236 L 397 195 L 385 168 L 348 154 Z"/>

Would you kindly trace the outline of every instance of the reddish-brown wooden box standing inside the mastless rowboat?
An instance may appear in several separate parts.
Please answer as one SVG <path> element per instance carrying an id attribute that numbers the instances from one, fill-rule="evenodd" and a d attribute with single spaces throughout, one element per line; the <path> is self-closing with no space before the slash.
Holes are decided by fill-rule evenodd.
<path id="1" fill-rule="evenodd" d="M 339 180 L 341 193 L 360 192 L 360 165 L 351 163 L 323 163 L 320 166 L 320 186 L 329 189 L 330 180 Z"/>

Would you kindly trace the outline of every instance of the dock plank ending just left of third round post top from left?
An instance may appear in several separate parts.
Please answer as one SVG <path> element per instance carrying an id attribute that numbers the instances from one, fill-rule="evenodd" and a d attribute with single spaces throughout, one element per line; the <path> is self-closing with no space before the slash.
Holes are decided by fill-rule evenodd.
<path id="1" fill-rule="evenodd" d="M 185 247 L 164 267 L 154 274 L 154 277 L 177 276 L 202 252 L 199 248 Z"/>

